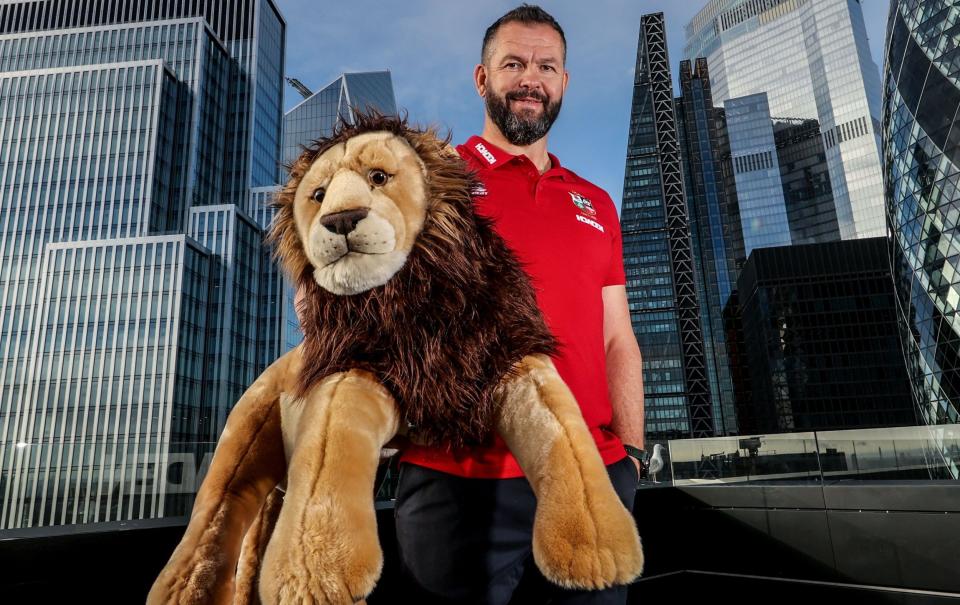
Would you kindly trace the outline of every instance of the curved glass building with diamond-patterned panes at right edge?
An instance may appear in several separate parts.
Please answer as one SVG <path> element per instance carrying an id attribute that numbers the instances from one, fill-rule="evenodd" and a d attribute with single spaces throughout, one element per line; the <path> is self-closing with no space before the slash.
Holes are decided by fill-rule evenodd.
<path id="1" fill-rule="evenodd" d="M 887 26 L 883 161 L 901 342 L 920 416 L 960 410 L 960 6 L 895 0 Z"/>

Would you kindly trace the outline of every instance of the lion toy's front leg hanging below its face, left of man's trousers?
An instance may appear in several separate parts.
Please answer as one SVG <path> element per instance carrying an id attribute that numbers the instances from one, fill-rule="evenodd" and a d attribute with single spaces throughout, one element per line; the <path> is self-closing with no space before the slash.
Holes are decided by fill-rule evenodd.
<path id="1" fill-rule="evenodd" d="M 371 374 L 356 370 L 325 379 L 302 405 L 260 598 L 353 603 L 373 590 L 383 566 L 373 481 L 399 411 Z"/>

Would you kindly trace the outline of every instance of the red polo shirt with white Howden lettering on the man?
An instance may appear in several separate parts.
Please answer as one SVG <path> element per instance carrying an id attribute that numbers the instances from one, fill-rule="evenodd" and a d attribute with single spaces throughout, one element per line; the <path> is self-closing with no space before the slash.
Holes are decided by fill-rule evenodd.
<path id="1" fill-rule="evenodd" d="M 530 275 L 540 310 L 560 342 L 553 361 L 577 398 L 604 463 L 621 460 L 626 452 L 609 430 L 601 298 L 604 286 L 625 283 L 613 201 L 552 154 L 552 167 L 541 175 L 525 155 L 511 155 L 480 137 L 457 151 L 484 184 L 474 192 L 477 211 L 494 221 Z M 499 436 L 483 448 L 411 446 L 401 461 L 463 477 L 523 476 Z"/>

